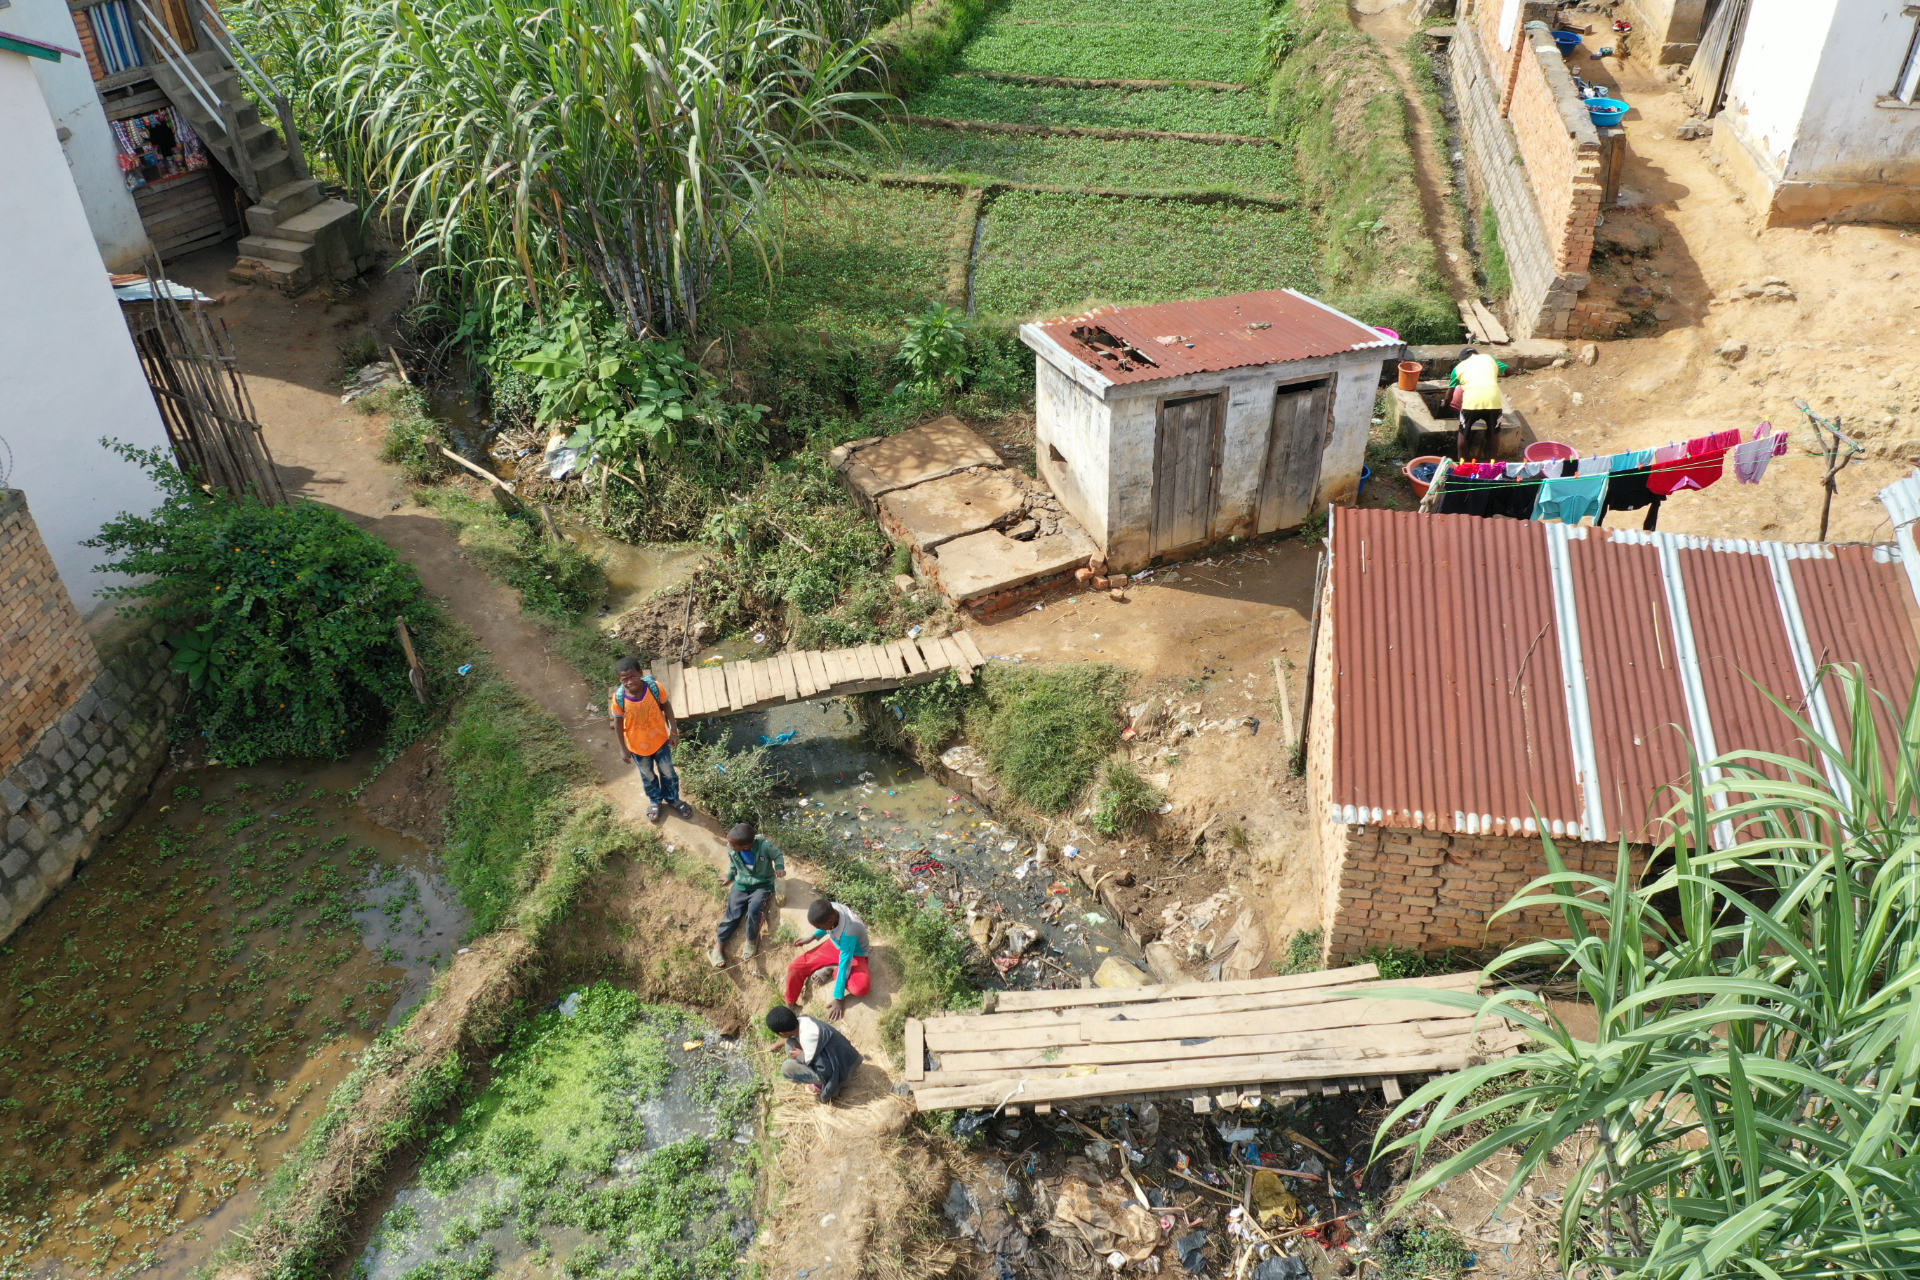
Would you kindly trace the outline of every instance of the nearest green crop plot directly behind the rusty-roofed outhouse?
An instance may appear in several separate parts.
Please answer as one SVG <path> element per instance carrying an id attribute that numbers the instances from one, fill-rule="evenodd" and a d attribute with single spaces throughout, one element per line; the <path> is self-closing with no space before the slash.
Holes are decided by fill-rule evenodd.
<path id="1" fill-rule="evenodd" d="M 979 311 L 1027 317 L 1248 290 L 1313 292 L 1308 211 L 1008 192 L 973 278 Z"/>

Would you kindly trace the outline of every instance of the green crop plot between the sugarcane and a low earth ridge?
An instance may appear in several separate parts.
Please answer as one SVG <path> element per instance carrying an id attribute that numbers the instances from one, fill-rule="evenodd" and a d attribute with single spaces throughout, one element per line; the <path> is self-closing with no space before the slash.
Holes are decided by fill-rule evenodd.
<path id="1" fill-rule="evenodd" d="M 722 326 L 787 324 L 841 340 L 899 340 L 906 317 L 947 292 L 947 244 L 960 196 L 824 182 L 787 190 L 772 234 L 785 249 L 772 288 L 758 263 L 735 263 L 716 290 Z"/>

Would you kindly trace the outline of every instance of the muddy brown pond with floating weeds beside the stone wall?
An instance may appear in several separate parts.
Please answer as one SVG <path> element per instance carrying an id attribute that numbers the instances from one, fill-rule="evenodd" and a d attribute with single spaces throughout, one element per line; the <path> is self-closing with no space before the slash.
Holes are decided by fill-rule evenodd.
<path id="1" fill-rule="evenodd" d="M 0 946 L 0 1280 L 202 1267 L 459 946 L 369 770 L 169 770 Z"/>

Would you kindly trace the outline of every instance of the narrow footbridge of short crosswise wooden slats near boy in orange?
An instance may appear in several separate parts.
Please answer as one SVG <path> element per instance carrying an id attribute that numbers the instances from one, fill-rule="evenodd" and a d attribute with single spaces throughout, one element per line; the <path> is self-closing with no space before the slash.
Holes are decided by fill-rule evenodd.
<path id="1" fill-rule="evenodd" d="M 647 674 L 674 704 L 682 720 L 758 712 L 806 699 L 841 699 L 851 693 L 879 693 L 902 685 L 924 685 L 945 672 L 973 683 L 973 670 L 987 658 L 966 631 L 945 637 L 856 645 L 852 649 L 803 649 L 772 658 L 741 658 L 714 666 L 655 662 Z"/>

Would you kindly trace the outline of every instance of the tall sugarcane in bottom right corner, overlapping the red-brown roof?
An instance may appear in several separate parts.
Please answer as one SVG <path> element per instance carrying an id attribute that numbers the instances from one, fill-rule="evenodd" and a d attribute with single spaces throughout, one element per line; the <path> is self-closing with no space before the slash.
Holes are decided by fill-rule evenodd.
<path id="1" fill-rule="evenodd" d="M 1534 1046 L 1394 1111 L 1402 1207 L 1517 1148 L 1505 1207 L 1571 1142 L 1567 1270 L 1920 1274 L 1920 691 L 1899 712 L 1857 672 L 1824 687 L 1841 741 L 1776 700 L 1807 758 L 1695 760 L 1653 871 L 1622 842 L 1611 879 L 1574 873 L 1546 842 L 1549 875 L 1505 910 L 1555 906 L 1567 936 L 1488 975 L 1571 979 L 1597 1032 L 1519 990 L 1450 998 Z"/>

